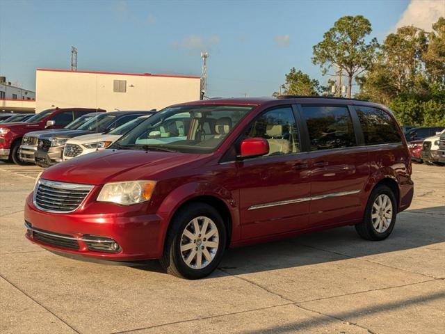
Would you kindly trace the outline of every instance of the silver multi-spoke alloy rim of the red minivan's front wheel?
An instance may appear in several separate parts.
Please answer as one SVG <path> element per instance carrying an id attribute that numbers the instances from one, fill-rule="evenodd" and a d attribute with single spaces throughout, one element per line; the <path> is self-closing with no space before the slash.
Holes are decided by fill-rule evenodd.
<path id="1" fill-rule="evenodd" d="M 192 219 L 182 232 L 181 256 L 192 269 L 207 267 L 218 252 L 218 246 L 218 228 L 209 217 Z"/>

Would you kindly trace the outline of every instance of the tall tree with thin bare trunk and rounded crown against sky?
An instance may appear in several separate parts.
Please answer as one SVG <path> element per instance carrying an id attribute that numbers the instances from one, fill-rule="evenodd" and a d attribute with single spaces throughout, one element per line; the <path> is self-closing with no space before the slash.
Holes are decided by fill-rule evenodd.
<path id="1" fill-rule="evenodd" d="M 362 15 L 343 16 L 323 35 L 323 40 L 314 45 L 312 63 L 320 65 L 323 74 L 332 67 L 346 72 L 348 97 L 351 95 L 353 77 L 367 70 L 373 63 L 378 42 L 365 38 L 371 33 L 371 23 Z"/>

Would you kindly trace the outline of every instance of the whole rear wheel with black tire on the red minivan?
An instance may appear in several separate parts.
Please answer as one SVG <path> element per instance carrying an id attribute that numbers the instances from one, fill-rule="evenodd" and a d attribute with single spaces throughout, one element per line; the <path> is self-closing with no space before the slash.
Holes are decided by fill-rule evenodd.
<path id="1" fill-rule="evenodd" d="M 382 199 L 382 208 L 389 207 L 389 210 L 382 209 L 381 212 L 376 208 L 379 207 L 379 198 Z M 387 200 L 385 204 L 384 200 Z M 376 186 L 369 196 L 368 203 L 364 212 L 363 221 L 355 225 L 355 230 L 360 237 L 366 240 L 380 241 L 389 237 L 394 225 L 396 224 L 397 201 L 393 191 L 385 185 Z"/>

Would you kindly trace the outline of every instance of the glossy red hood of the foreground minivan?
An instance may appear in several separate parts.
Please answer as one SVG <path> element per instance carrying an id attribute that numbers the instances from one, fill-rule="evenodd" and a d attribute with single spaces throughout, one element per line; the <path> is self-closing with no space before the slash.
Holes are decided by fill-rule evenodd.
<path id="1" fill-rule="evenodd" d="M 42 178 L 80 184 L 105 184 L 129 180 L 159 180 L 180 166 L 201 165 L 208 154 L 143 150 L 102 150 L 63 161 L 44 170 Z M 193 169 L 193 166 L 188 166 Z M 176 173 L 179 175 L 179 173 Z"/>

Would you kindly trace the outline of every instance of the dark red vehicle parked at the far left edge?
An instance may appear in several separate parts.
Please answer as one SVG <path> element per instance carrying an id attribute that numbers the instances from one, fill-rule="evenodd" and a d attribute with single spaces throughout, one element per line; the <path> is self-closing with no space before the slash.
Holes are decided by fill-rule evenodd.
<path id="1" fill-rule="evenodd" d="M 73 120 L 92 113 L 97 109 L 86 108 L 55 108 L 36 113 L 24 122 L 11 122 L 0 124 L 0 160 L 12 160 L 15 164 L 23 165 L 26 162 L 20 159 L 19 148 L 22 137 L 28 132 L 44 129 L 62 129 Z M 104 111 L 100 109 L 100 111 Z"/>

